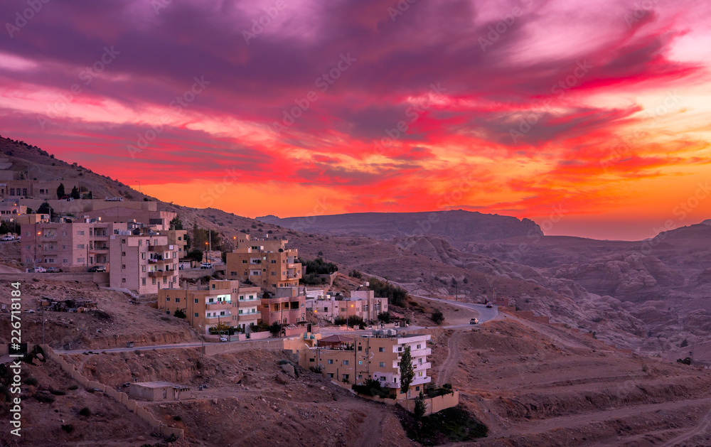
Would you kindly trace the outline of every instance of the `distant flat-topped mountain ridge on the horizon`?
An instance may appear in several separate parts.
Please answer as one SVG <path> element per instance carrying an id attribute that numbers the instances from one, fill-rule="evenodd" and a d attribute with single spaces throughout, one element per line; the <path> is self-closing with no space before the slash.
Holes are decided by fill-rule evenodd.
<path id="1" fill-rule="evenodd" d="M 459 247 L 466 242 L 543 235 L 530 219 L 465 210 L 432 212 L 354 212 L 340 215 L 285 217 L 274 215 L 257 220 L 292 230 L 334 236 L 366 236 L 377 239 L 437 235 Z"/>

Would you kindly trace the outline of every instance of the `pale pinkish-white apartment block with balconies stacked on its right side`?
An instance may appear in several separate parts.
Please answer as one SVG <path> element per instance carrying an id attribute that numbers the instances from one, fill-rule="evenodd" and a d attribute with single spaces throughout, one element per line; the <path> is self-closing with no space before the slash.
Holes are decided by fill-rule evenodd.
<path id="1" fill-rule="evenodd" d="M 144 295 L 177 286 L 178 246 L 169 244 L 168 236 L 150 228 L 134 228 L 112 235 L 107 248 L 112 287 Z"/>

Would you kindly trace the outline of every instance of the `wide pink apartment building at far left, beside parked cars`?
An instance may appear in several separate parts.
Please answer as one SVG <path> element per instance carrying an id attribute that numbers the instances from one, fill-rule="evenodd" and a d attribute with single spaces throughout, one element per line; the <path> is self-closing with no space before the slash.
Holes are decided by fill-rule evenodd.
<path id="1" fill-rule="evenodd" d="M 126 224 L 38 222 L 21 225 L 21 259 L 28 266 L 56 266 L 68 271 L 109 263 L 109 237 Z"/>

